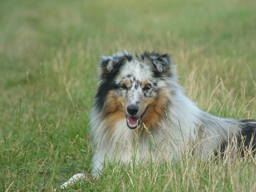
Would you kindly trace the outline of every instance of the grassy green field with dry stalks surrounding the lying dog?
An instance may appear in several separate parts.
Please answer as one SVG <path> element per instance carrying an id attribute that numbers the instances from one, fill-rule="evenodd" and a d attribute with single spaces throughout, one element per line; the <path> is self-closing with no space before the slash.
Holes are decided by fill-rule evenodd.
<path id="1" fill-rule="evenodd" d="M 90 172 L 98 59 L 167 52 L 202 110 L 256 118 L 253 0 L 0 1 L 0 191 L 52 191 Z M 66 191 L 256 191 L 256 158 L 108 165 Z"/>

